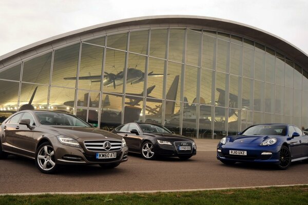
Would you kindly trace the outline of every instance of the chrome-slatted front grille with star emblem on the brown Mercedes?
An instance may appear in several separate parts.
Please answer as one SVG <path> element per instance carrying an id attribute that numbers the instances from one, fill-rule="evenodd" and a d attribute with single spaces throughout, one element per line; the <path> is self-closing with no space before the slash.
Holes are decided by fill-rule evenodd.
<path id="1" fill-rule="evenodd" d="M 105 149 L 107 142 L 110 142 L 111 147 Z M 93 141 L 84 141 L 84 144 L 87 150 L 90 151 L 118 151 L 122 148 L 122 141 L 115 141 L 115 140 L 93 140 Z"/>

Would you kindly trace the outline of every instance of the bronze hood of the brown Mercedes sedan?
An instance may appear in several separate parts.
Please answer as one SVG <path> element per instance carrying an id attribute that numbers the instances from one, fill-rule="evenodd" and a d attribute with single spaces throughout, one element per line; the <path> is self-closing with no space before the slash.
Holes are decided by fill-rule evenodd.
<path id="1" fill-rule="evenodd" d="M 98 128 L 83 128 L 83 127 L 49 127 L 49 130 L 57 133 L 57 135 L 65 135 L 74 139 L 83 138 L 83 139 L 120 139 L 122 137 L 106 130 Z"/>

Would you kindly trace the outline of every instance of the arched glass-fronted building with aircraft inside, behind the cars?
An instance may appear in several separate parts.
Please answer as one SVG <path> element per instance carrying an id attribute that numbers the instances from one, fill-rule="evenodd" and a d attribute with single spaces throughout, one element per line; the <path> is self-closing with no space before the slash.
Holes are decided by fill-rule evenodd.
<path id="1" fill-rule="evenodd" d="M 148 121 L 198 138 L 261 123 L 308 127 L 307 62 L 283 39 L 239 23 L 125 19 L 0 56 L 0 114 L 31 104 L 106 130 Z"/>

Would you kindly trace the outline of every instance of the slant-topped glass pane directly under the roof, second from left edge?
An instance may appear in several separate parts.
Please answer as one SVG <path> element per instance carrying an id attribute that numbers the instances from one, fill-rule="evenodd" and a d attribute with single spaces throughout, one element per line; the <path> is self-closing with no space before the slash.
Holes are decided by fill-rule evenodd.
<path id="1" fill-rule="evenodd" d="M 52 52 L 35 57 L 24 63 L 24 82 L 49 84 Z"/>

